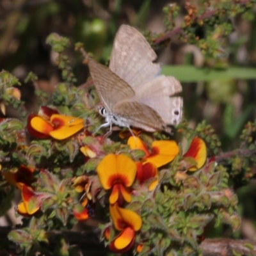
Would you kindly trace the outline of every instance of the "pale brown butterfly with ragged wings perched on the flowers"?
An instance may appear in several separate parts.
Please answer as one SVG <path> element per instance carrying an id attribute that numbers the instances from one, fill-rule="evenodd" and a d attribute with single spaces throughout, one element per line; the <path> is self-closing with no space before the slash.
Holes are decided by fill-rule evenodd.
<path id="1" fill-rule="evenodd" d="M 88 57 L 93 83 L 102 102 L 100 114 L 106 124 L 131 126 L 144 131 L 170 132 L 182 117 L 182 98 L 171 97 L 182 91 L 172 76 L 159 75 L 156 53 L 144 36 L 131 26 L 118 29 L 109 68 Z"/>

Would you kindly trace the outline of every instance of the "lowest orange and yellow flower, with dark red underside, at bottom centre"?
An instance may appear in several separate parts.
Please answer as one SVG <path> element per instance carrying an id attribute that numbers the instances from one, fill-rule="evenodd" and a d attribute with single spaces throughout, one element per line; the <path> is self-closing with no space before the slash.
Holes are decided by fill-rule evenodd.
<path id="1" fill-rule="evenodd" d="M 111 219 L 120 234 L 109 244 L 114 252 L 127 252 L 134 244 L 136 231 L 140 230 L 142 219 L 140 215 L 128 209 L 118 207 L 118 204 L 109 206 Z"/>

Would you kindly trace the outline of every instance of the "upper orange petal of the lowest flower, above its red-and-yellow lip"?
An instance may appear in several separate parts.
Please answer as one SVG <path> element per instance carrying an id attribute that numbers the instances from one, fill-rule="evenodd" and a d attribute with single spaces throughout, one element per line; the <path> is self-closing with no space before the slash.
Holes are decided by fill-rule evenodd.
<path id="1" fill-rule="evenodd" d="M 117 230 L 123 230 L 125 227 L 140 230 L 142 219 L 136 212 L 118 207 L 118 204 L 109 205 L 109 212 Z"/>

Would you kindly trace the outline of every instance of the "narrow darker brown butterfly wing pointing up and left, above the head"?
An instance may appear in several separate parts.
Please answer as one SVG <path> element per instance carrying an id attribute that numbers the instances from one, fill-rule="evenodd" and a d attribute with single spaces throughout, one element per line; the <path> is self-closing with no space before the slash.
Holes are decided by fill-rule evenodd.
<path id="1" fill-rule="evenodd" d="M 88 58 L 88 65 L 100 100 L 108 111 L 112 111 L 117 102 L 134 96 L 131 86 L 116 76 L 108 67 L 92 58 Z"/>

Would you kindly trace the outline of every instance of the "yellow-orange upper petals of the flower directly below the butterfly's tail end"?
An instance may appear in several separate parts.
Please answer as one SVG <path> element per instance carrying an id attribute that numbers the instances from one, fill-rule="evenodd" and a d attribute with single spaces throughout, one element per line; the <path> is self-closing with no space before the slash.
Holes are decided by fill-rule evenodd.
<path id="1" fill-rule="evenodd" d="M 139 137 L 131 136 L 128 140 L 128 145 L 131 149 L 143 150 L 146 156 L 141 161 L 143 163 L 155 164 L 157 168 L 170 163 L 179 154 L 179 147 L 173 140 L 153 141 L 149 151 Z"/>

